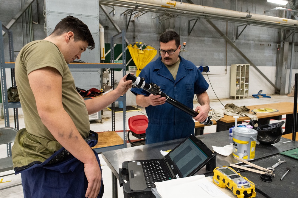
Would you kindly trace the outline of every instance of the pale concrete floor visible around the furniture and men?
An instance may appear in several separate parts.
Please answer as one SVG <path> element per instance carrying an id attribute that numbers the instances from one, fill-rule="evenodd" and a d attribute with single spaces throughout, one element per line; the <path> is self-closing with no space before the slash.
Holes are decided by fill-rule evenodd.
<path id="1" fill-rule="evenodd" d="M 234 103 L 237 106 L 250 106 L 250 105 L 257 105 L 257 104 L 268 104 L 268 103 L 277 103 L 277 102 L 294 102 L 294 97 L 288 97 L 288 96 L 281 96 L 281 95 L 271 95 L 271 98 L 245 98 L 240 100 L 234 100 L 234 99 L 221 99 L 221 102 L 218 100 L 211 100 L 210 106 L 212 109 L 223 109 L 225 104 L 227 103 Z M 223 105 L 222 105 L 222 104 Z M 198 106 L 197 103 L 194 104 L 194 107 Z M 140 108 L 140 111 L 131 111 L 127 112 L 127 120 L 129 117 L 134 115 L 140 115 L 145 114 L 146 111 L 145 108 Z M 10 117 L 10 123 L 11 126 L 13 126 L 13 117 Z M 123 131 L 123 114 L 122 113 L 115 113 L 115 123 L 116 123 L 116 131 Z M 91 130 L 100 132 L 100 131 L 111 131 L 111 111 L 108 109 L 105 109 L 103 111 L 102 115 L 102 122 L 97 121 L 90 121 Z M 0 127 L 4 127 L 4 120 L 0 120 Z M 19 116 L 19 128 L 24 128 L 24 118 L 22 116 Z M 128 129 L 128 125 L 127 125 Z M 216 126 L 208 126 L 205 127 L 204 133 L 214 133 L 216 132 Z M 120 137 L 123 137 L 123 132 L 118 132 L 118 135 Z M 130 136 L 131 139 L 134 137 Z M 127 147 L 130 147 L 131 145 L 128 143 Z M 6 147 L 5 145 L 0 146 L 0 158 L 6 157 Z M 99 153 L 101 165 L 102 165 L 102 174 L 103 174 L 103 180 L 105 183 L 105 193 L 104 198 L 110 198 L 112 197 L 112 186 L 111 186 L 111 170 L 101 157 L 101 153 Z M 13 173 L 13 171 L 7 171 L 7 172 L 1 172 L 0 175 L 7 175 Z M 10 198 L 22 198 L 23 195 L 23 188 L 21 185 L 11 187 L 17 184 L 21 184 L 21 175 L 9 175 L 5 177 L 0 177 L 0 189 L 7 188 L 0 191 L 0 198 L 1 197 L 10 197 Z M 119 187 L 118 184 L 118 197 L 123 197 L 122 187 Z"/>

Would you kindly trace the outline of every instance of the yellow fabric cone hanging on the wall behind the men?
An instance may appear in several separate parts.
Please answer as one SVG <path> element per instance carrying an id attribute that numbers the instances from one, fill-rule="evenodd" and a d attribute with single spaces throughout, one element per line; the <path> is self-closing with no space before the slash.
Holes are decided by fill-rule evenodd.
<path id="1" fill-rule="evenodd" d="M 154 47 L 146 45 L 142 42 L 136 42 L 128 45 L 128 51 L 136 64 L 136 76 L 139 76 L 141 70 L 153 59 L 157 54 Z"/>

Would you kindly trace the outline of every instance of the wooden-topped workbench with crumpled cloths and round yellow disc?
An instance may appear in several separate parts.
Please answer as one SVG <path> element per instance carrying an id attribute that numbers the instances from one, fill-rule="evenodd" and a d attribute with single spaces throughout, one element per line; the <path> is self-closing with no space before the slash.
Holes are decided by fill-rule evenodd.
<path id="1" fill-rule="evenodd" d="M 252 113 L 251 110 L 254 110 L 254 109 L 262 109 L 262 108 L 277 109 L 278 110 L 277 112 L 257 113 L 256 116 L 258 117 L 258 120 L 260 121 L 260 123 L 265 125 L 265 124 L 269 124 L 269 121 L 271 119 L 281 120 L 282 115 L 286 115 L 284 134 L 292 133 L 294 103 L 281 102 L 281 103 L 252 105 L 252 106 L 246 106 L 246 107 L 250 109 L 249 113 Z M 237 123 L 241 124 L 242 121 L 245 121 L 245 120 L 250 120 L 250 119 L 249 117 L 239 117 L 237 118 Z M 229 130 L 229 128 L 231 128 L 234 125 L 235 125 L 235 118 L 233 118 L 233 116 L 224 115 L 223 118 L 217 121 L 216 132 Z"/>

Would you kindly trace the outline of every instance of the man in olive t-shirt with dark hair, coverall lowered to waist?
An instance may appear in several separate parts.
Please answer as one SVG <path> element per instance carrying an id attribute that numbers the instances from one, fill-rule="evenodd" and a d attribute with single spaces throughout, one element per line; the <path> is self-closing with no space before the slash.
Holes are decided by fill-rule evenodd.
<path id="1" fill-rule="evenodd" d="M 90 148 L 97 140 L 89 133 L 88 114 L 125 94 L 131 81 L 124 76 L 116 89 L 84 101 L 67 64 L 94 46 L 86 24 L 68 16 L 51 35 L 28 43 L 17 56 L 15 78 L 26 128 L 16 136 L 12 157 L 15 173 L 22 173 L 24 197 L 103 195 L 99 158 Z"/>

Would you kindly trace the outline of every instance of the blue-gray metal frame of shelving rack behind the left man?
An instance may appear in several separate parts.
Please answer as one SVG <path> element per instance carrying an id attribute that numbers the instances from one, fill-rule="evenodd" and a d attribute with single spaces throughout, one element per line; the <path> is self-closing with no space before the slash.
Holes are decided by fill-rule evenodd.
<path id="1" fill-rule="evenodd" d="M 4 61 L 4 42 L 2 36 L 2 28 L 9 36 L 9 48 L 10 48 L 10 62 Z M 1 72 L 1 94 L 2 94 L 2 103 L 3 103 L 3 113 L 4 113 L 4 121 L 5 127 L 9 127 L 9 113 L 8 109 L 14 109 L 14 121 L 15 121 L 15 128 L 19 130 L 18 126 L 18 109 L 21 108 L 20 102 L 8 102 L 7 101 L 7 84 L 6 84 L 6 73 L 5 69 L 11 70 L 11 80 L 12 80 L 12 87 L 15 87 L 15 75 L 14 75 L 14 54 L 13 54 L 13 39 L 12 39 L 12 32 L 6 29 L 5 26 L 2 25 L 0 21 L 0 72 Z M 119 34 L 111 37 L 111 63 L 72 63 L 69 64 L 70 69 L 77 69 L 77 68 L 86 68 L 86 69 L 111 69 L 111 83 L 112 88 L 115 88 L 114 84 L 114 69 L 122 69 L 123 76 L 126 75 L 126 54 L 125 54 L 125 30 L 122 30 Z M 121 63 L 114 63 L 114 40 L 122 38 L 122 64 Z M 115 145 L 110 147 L 103 147 L 103 148 L 96 148 L 97 153 L 115 150 L 120 148 L 126 148 L 126 94 L 123 97 L 118 98 L 116 101 L 123 102 L 123 144 Z M 115 131 L 115 103 L 112 103 L 112 131 Z"/>

